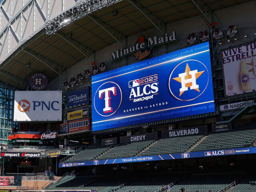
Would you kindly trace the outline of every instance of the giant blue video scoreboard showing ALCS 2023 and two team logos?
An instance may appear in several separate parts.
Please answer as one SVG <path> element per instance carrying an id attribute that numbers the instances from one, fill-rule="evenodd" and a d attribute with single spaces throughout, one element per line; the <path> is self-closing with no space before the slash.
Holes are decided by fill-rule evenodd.
<path id="1" fill-rule="evenodd" d="M 208 42 L 92 76 L 92 131 L 209 112 Z"/>

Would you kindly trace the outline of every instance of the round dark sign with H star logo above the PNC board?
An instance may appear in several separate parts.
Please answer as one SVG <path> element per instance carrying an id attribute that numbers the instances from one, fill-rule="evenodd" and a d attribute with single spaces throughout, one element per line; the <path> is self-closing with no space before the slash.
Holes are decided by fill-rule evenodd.
<path id="1" fill-rule="evenodd" d="M 40 91 L 46 88 L 48 80 L 42 73 L 35 73 L 30 77 L 29 84 L 32 89 Z"/>

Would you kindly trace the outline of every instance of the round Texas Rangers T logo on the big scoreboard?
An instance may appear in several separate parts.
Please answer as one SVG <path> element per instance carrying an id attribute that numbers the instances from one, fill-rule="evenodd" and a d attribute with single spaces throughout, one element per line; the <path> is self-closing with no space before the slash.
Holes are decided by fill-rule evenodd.
<path id="1" fill-rule="evenodd" d="M 102 84 L 94 95 L 94 108 L 101 116 L 110 116 L 120 107 L 122 91 L 114 82 Z"/>

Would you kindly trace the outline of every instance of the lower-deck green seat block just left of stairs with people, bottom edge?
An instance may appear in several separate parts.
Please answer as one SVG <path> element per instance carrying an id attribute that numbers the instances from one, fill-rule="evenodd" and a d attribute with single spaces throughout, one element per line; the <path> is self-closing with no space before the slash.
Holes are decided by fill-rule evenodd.
<path id="1" fill-rule="evenodd" d="M 180 176 L 148 176 L 142 177 L 131 184 L 117 190 L 117 192 L 156 192 L 161 190 L 162 185 L 167 186 L 180 179 Z"/>

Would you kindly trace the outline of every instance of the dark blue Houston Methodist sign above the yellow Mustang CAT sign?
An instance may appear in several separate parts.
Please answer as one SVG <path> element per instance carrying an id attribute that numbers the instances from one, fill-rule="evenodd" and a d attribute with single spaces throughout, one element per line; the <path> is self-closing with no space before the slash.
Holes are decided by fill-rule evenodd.
<path id="1" fill-rule="evenodd" d="M 72 91 L 67 94 L 67 106 L 74 107 L 88 104 L 88 88 Z"/>

